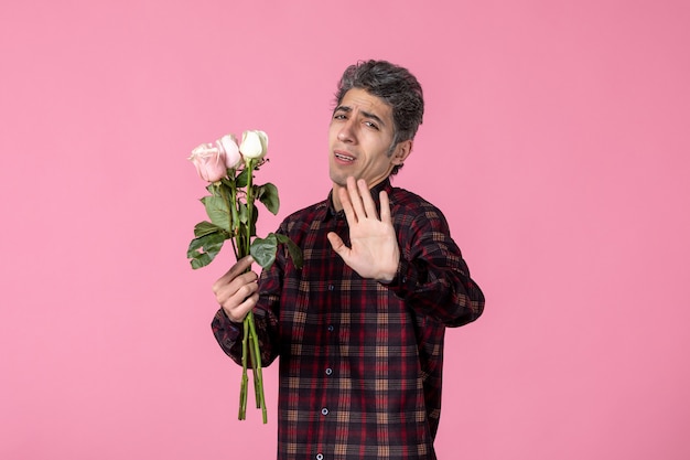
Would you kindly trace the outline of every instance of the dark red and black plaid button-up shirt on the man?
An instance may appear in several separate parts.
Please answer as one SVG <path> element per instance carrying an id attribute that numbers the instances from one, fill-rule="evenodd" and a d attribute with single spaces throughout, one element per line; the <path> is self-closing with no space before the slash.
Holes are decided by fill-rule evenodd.
<path id="1" fill-rule="evenodd" d="M 279 250 L 255 310 L 263 365 L 279 360 L 278 459 L 435 459 L 445 327 L 474 321 L 484 296 L 441 212 L 386 180 L 400 245 L 396 279 L 363 279 L 331 248 L 349 245 L 331 200 L 289 216 L 279 232 L 304 267 Z M 241 328 L 218 310 L 212 328 L 240 362 Z"/>

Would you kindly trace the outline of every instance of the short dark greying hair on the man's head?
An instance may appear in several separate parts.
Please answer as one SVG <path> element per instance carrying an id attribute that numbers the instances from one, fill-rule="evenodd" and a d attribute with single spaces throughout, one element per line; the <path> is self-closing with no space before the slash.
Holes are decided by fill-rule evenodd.
<path id="1" fill-rule="evenodd" d="M 387 61 L 359 61 L 345 69 L 335 93 L 336 107 L 345 94 L 353 89 L 364 89 L 377 96 L 392 109 L 393 139 L 389 154 L 405 140 L 414 139 L 424 115 L 422 87 L 407 68 Z M 396 165 L 391 174 L 402 167 Z"/>

